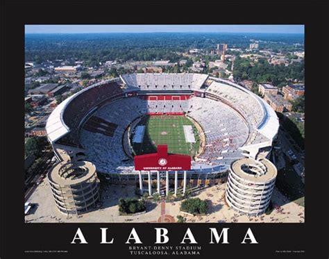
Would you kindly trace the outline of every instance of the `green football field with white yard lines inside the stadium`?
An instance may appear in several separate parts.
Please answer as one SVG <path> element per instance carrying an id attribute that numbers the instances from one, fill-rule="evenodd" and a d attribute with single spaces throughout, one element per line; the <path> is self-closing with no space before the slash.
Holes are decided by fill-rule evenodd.
<path id="1" fill-rule="evenodd" d="M 169 153 L 179 153 L 194 156 L 199 150 L 200 138 L 196 127 L 184 116 L 149 116 L 146 115 L 137 124 L 145 126 L 142 143 L 131 144 L 136 155 L 144 153 L 155 153 L 158 144 L 167 144 Z M 195 143 L 187 143 L 184 135 L 184 125 L 191 125 L 194 131 Z"/>

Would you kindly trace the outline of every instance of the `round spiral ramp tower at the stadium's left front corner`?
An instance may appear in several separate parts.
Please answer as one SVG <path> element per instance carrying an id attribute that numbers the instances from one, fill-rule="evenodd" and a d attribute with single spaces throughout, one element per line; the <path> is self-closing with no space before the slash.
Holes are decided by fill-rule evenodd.
<path id="1" fill-rule="evenodd" d="M 80 215 L 99 202 L 99 178 L 91 162 L 60 162 L 48 173 L 48 181 L 63 214 Z"/>

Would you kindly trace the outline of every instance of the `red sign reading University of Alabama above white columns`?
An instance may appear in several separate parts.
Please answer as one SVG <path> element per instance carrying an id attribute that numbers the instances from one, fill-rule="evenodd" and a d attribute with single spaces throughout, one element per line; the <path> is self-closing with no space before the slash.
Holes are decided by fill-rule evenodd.
<path id="1" fill-rule="evenodd" d="M 167 145 L 158 145 L 157 153 L 135 156 L 135 170 L 176 171 L 190 170 L 191 157 L 178 154 L 169 154 Z"/>

